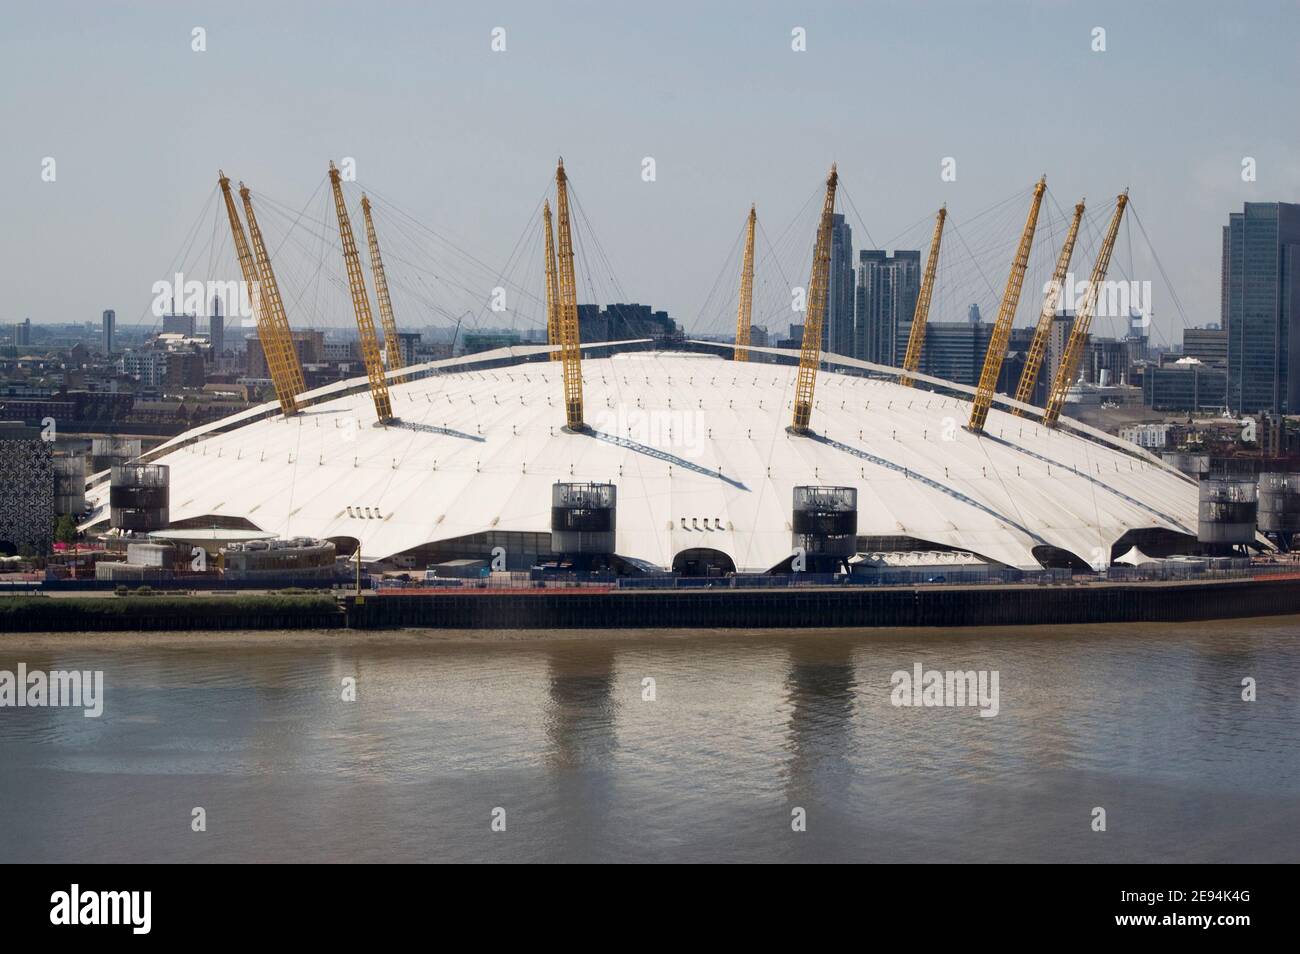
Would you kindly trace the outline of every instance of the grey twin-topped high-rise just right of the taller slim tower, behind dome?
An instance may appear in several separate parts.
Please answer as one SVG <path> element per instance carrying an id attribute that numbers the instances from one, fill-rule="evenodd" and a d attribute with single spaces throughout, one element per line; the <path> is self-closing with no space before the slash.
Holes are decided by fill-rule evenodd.
<path id="1" fill-rule="evenodd" d="M 881 248 L 858 253 L 853 356 L 898 367 L 907 352 L 920 294 L 920 252 Z"/>

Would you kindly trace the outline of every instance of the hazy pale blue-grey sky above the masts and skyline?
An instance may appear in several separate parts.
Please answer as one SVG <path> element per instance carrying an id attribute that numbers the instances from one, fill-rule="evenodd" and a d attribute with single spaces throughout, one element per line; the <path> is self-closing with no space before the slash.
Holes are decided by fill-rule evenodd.
<path id="1" fill-rule="evenodd" d="M 1228 212 L 1300 201 L 1294 1 L 6 0 L 0 29 L 0 322 L 139 320 L 218 166 L 294 203 L 355 157 L 504 264 L 563 155 L 627 296 L 688 328 L 749 204 L 775 235 L 831 161 L 881 240 L 1044 173 L 1063 207 L 1128 187 L 1175 339 L 1218 321 Z"/>

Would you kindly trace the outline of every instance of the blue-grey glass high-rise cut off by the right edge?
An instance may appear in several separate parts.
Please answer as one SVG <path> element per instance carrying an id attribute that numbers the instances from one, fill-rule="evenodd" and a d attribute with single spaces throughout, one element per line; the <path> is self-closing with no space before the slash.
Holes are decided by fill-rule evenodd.
<path id="1" fill-rule="evenodd" d="M 1300 205 L 1248 201 L 1223 227 L 1227 404 L 1300 409 Z"/>

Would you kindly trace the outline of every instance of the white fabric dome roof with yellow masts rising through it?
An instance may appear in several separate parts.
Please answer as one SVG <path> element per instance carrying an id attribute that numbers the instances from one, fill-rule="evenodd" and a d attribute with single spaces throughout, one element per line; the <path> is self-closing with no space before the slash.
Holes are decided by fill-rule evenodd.
<path id="1" fill-rule="evenodd" d="M 376 425 L 361 391 L 289 420 L 209 425 L 152 459 L 172 469 L 173 521 L 243 516 L 282 537 L 355 537 L 373 559 L 549 532 L 555 481 L 618 483 L 618 552 L 660 567 L 690 547 L 741 571 L 776 565 L 801 483 L 855 486 L 859 534 L 1017 567 L 1037 567 L 1044 543 L 1097 563 L 1132 528 L 1196 533 L 1196 486 L 1173 468 L 997 406 L 976 437 L 966 400 L 823 370 L 816 437 L 794 437 L 794 367 L 633 352 L 582 368 L 594 434 L 562 428 L 560 364 L 524 363 L 394 385 L 395 425 Z M 88 522 L 105 517 L 107 483 L 87 498 L 100 508 Z"/>

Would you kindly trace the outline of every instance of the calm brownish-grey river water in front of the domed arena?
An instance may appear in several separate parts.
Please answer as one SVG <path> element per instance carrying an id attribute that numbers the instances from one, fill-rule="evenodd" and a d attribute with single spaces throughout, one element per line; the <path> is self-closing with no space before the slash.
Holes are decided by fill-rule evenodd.
<path id="1" fill-rule="evenodd" d="M 0 636 L 20 663 L 103 671 L 104 711 L 0 708 L 4 862 L 1300 859 L 1300 617 Z M 893 704 L 916 663 L 996 671 L 997 715 Z"/>

